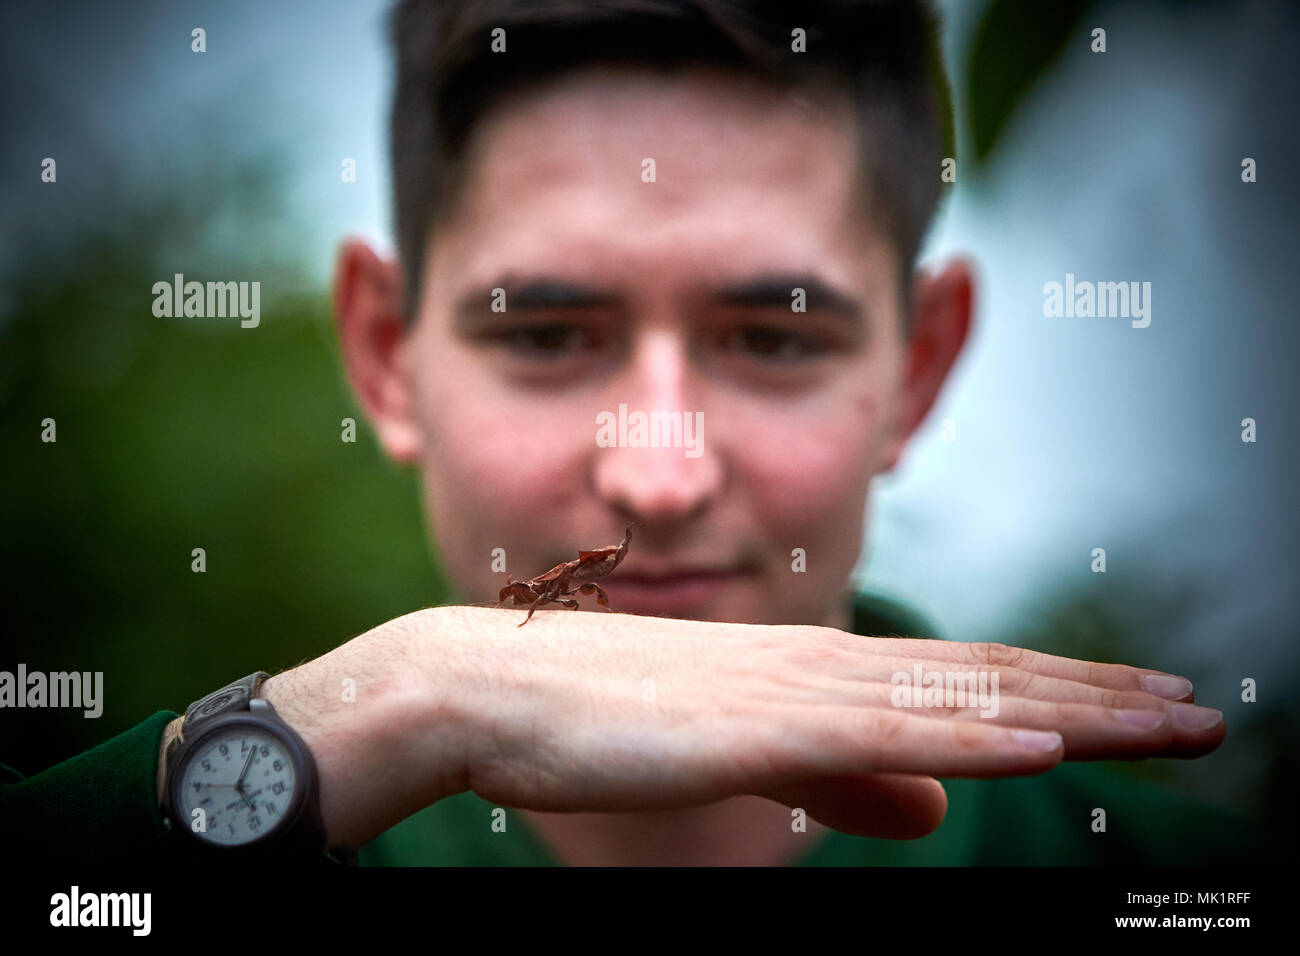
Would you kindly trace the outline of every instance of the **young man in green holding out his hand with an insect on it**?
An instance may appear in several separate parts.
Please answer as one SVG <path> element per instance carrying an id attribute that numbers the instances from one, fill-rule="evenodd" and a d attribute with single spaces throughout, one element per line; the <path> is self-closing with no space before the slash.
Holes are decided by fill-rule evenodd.
<path id="1" fill-rule="evenodd" d="M 911 272 L 944 152 L 922 7 L 411 0 L 394 27 L 400 263 L 347 243 L 334 299 L 348 377 L 386 453 L 421 471 L 462 604 L 261 684 L 315 757 L 330 847 L 365 847 L 364 862 L 900 862 L 889 847 L 907 844 L 853 836 L 933 831 L 936 777 L 1222 743 L 1222 714 L 1182 678 L 875 636 L 914 631 L 846 592 L 871 479 L 924 419 L 972 311 L 965 263 Z M 602 423 L 638 412 L 680 415 L 682 441 L 611 446 L 620 429 Z M 599 581 L 621 614 L 545 609 L 519 627 L 524 610 L 476 606 L 504 584 L 495 549 L 526 579 L 629 524 Z M 918 667 L 996 674 L 996 713 L 901 705 L 896 675 Z M 69 825 L 69 853 L 165 858 L 181 723 L 160 711 L 0 800 L 25 819 L 96 806 L 112 826 Z M 997 800 L 958 780 L 967 848 L 1005 845 L 1000 827 L 1036 805 L 1070 832 L 1049 839 L 1056 861 L 1096 858 L 1080 855 L 1102 791 L 1069 778 L 1062 809 L 1048 779 Z M 1004 817 L 972 816 L 979 799 Z M 1178 818 L 1126 805 L 1145 816 L 1118 842 L 1153 861 L 1135 832 Z M 519 809 L 504 832 L 495 806 Z"/>

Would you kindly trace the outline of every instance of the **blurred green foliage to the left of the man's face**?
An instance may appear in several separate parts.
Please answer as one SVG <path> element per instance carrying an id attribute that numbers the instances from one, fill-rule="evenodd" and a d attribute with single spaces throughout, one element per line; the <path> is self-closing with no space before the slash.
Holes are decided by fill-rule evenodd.
<path id="1" fill-rule="evenodd" d="M 0 667 L 104 672 L 99 719 L 0 714 L 0 761 L 22 773 L 446 600 L 417 479 L 368 431 L 324 291 L 255 235 L 205 239 L 218 217 L 247 233 L 277 215 L 273 181 L 200 165 L 199 186 L 86 211 L 6 282 Z M 260 281 L 260 326 L 155 317 L 174 272 Z"/>

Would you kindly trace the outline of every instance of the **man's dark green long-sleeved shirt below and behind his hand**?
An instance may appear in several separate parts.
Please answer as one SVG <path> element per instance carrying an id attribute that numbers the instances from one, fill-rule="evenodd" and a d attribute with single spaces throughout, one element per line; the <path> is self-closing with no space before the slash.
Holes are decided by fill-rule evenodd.
<path id="1" fill-rule="evenodd" d="M 930 635 L 923 620 L 881 598 L 854 605 L 861 635 Z M 135 727 L 35 777 L 0 763 L 0 845 L 34 862 L 178 862 L 162 827 L 155 775 L 160 710 Z M 1279 862 L 1273 834 L 1242 817 L 1106 763 L 1061 763 L 1037 777 L 945 779 L 948 816 L 919 840 L 831 831 L 809 835 L 800 866 L 1232 865 Z M 1093 832 L 1093 810 L 1106 831 Z M 558 865 L 517 813 L 493 827 L 494 805 L 473 792 L 413 813 L 360 851 L 363 866 Z M 499 816 L 499 814 L 498 814 Z"/>

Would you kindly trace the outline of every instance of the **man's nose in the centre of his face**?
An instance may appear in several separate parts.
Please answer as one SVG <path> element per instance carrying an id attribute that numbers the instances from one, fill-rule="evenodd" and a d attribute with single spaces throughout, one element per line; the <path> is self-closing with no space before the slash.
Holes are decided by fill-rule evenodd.
<path id="1" fill-rule="evenodd" d="M 647 330 L 638 338 L 624 372 L 606 392 L 602 420 L 612 425 L 607 437 L 614 444 L 595 449 L 593 466 L 594 492 L 620 516 L 681 523 L 697 518 L 722 493 L 722 460 L 698 407 L 703 385 L 676 332 Z"/>

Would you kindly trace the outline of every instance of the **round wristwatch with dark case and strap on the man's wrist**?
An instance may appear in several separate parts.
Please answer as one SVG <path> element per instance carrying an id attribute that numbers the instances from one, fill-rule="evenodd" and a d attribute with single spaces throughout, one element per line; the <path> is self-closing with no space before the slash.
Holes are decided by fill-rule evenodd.
<path id="1" fill-rule="evenodd" d="M 166 748 L 162 825 L 204 862 L 311 860 L 356 865 L 325 848 L 316 762 L 257 689 L 256 671 L 194 701 Z"/>

